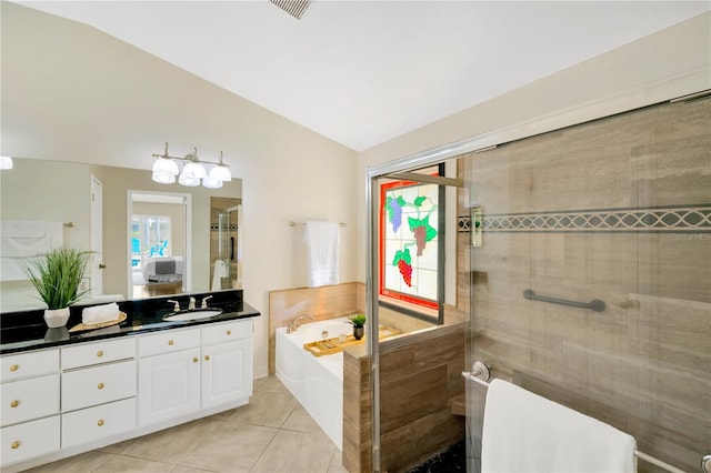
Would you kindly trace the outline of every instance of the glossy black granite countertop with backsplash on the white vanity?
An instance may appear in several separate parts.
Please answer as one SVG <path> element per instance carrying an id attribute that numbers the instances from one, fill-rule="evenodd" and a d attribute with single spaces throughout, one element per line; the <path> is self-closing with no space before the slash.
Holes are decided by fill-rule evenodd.
<path id="1" fill-rule="evenodd" d="M 202 299 L 212 295 L 209 300 L 210 309 L 222 309 L 222 313 L 193 321 L 163 321 L 166 315 L 170 315 L 173 312 L 173 304 L 167 302 L 169 299 L 179 301 L 181 308 L 184 309 L 188 306 L 188 298 L 191 295 L 196 298 L 198 306 Z M 118 325 L 82 332 L 70 332 L 69 330 L 81 323 L 81 311 L 84 308 L 100 304 L 71 306 L 67 326 L 59 329 L 47 328 L 42 318 L 43 310 L 2 313 L 0 314 L 0 354 L 20 353 L 72 343 L 183 329 L 260 315 L 257 309 L 242 300 L 241 290 L 179 294 L 117 303 L 119 304 L 119 310 L 127 314 L 127 319 L 123 322 Z"/>

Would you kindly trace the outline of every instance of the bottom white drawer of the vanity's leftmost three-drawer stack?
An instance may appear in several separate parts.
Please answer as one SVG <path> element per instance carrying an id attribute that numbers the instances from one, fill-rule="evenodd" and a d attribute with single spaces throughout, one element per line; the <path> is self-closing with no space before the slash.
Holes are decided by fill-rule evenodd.
<path id="1" fill-rule="evenodd" d="M 59 450 L 59 415 L 3 427 L 2 465 Z"/>

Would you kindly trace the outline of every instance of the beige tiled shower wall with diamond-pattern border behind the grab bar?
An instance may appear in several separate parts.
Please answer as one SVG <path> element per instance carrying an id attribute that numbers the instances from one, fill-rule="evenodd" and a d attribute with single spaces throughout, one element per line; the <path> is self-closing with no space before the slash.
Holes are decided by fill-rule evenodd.
<path id="1" fill-rule="evenodd" d="M 698 471 L 711 453 L 711 100 L 512 142 L 460 169 L 484 212 L 473 358 Z"/>

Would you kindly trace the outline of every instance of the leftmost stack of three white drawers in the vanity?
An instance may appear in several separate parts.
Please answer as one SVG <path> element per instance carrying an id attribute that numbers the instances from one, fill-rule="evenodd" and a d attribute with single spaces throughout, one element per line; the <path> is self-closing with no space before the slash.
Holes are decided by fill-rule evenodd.
<path id="1" fill-rule="evenodd" d="M 60 447 L 59 350 L 1 359 L 0 465 L 56 452 Z"/>

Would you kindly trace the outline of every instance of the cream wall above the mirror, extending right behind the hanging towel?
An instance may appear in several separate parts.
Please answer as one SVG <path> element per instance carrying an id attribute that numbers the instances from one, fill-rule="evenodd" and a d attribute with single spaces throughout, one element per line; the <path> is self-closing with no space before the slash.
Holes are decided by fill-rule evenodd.
<path id="1" fill-rule="evenodd" d="M 243 180 L 244 296 L 262 311 L 254 373 L 266 375 L 268 291 L 306 281 L 294 264 L 302 230 L 288 222 L 347 222 L 340 279 L 356 279 L 357 153 L 98 30 L 0 8 L 3 155 L 148 173 L 166 141 L 172 154 L 224 152 Z"/>

